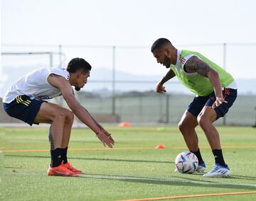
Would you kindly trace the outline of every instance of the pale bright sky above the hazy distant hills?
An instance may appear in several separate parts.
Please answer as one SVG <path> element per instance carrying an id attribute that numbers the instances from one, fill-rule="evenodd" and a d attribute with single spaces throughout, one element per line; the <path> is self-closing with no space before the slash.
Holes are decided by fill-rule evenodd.
<path id="1" fill-rule="evenodd" d="M 222 66 L 221 44 L 227 42 L 226 69 L 235 78 L 256 79 L 256 67 L 251 64 L 256 52 L 255 8 L 253 0 L 1 0 L 1 50 L 33 50 L 6 44 L 150 48 L 154 40 L 164 37 L 178 49 L 199 51 Z M 67 61 L 85 57 L 92 66 L 112 67 L 111 50 L 63 51 Z M 166 73 L 147 48 L 117 48 L 117 69 L 142 76 Z"/>

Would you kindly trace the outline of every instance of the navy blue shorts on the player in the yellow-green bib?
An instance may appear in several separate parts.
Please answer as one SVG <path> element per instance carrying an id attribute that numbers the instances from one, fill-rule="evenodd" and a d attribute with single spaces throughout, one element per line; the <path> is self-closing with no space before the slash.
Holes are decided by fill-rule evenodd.
<path id="1" fill-rule="evenodd" d="M 226 113 L 228 113 L 228 109 L 235 102 L 235 98 L 238 96 L 238 90 L 233 88 L 224 88 L 223 90 L 223 98 L 228 103 L 221 103 L 218 107 L 214 108 L 218 120 L 219 117 L 223 117 Z M 208 96 L 197 96 L 193 99 L 193 101 L 188 105 L 188 112 L 197 117 L 204 106 L 212 106 L 216 101 L 214 91 L 210 93 Z"/>

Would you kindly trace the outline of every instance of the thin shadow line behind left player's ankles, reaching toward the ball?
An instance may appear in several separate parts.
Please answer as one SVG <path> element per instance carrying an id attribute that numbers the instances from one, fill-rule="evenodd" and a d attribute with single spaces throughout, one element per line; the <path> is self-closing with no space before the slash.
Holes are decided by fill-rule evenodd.
<path id="1" fill-rule="evenodd" d="M 49 159 L 49 156 L 28 156 L 28 155 L 5 155 L 5 157 L 21 157 L 21 158 L 41 158 Z M 135 162 L 135 163 L 174 163 L 170 161 L 146 161 L 146 160 L 125 160 L 125 159 L 97 159 L 84 157 L 68 157 L 68 159 L 88 160 L 88 161 L 118 161 L 118 162 Z"/>

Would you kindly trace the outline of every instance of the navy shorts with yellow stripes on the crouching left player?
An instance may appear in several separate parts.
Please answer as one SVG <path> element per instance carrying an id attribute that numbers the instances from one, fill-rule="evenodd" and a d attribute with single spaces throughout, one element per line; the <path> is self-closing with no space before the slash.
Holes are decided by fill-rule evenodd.
<path id="1" fill-rule="evenodd" d="M 29 125 L 37 124 L 34 122 L 41 104 L 46 101 L 33 99 L 29 96 L 17 96 L 11 103 L 3 103 L 6 113 L 18 120 L 28 123 Z M 46 102 L 47 103 L 47 102 Z"/>

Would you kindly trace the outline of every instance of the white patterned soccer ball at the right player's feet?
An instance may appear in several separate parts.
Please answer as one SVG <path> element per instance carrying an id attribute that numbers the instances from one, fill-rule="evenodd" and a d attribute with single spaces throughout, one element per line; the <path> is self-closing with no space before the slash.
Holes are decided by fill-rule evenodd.
<path id="1" fill-rule="evenodd" d="M 198 168 L 198 158 L 191 151 L 183 151 L 175 159 L 177 171 L 193 173 Z"/>

